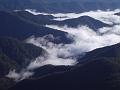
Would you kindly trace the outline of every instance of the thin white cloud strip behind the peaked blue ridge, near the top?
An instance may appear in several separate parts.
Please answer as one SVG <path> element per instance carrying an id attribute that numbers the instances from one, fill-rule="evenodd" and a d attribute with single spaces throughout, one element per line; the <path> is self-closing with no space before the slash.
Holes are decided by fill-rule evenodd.
<path id="1" fill-rule="evenodd" d="M 39 15 L 39 14 L 52 15 L 55 17 L 54 20 L 57 20 L 57 21 L 63 21 L 66 19 L 73 19 L 73 18 L 78 18 L 78 17 L 87 15 L 107 24 L 118 24 L 118 23 L 120 24 L 120 17 L 115 15 L 116 13 L 120 12 L 120 9 L 115 9 L 114 11 L 96 10 L 96 11 L 89 11 L 89 12 L 83 12 L 83 13 L 57 13 L 57 14 L 41 13 L 33 9 L 26 9 L 25 11 L 28 11 L 33 15 Z"/>

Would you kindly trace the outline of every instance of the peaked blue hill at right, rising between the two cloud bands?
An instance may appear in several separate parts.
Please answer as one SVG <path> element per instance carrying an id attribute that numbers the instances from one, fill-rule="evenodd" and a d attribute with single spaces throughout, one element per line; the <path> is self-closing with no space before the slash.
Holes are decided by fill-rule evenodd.
<path id="1" fill-rule="evenodd" d="M 105 24 L 89 16 L 81 16 L 79 18 L 68 19 L 56 24 L 60 26 L 67 25 L 68 27 L 78 27 L 78 26 L 86 25 L 93 30 L 97 30 L 102 27 L 110 27 L 110 25 Z"/>

